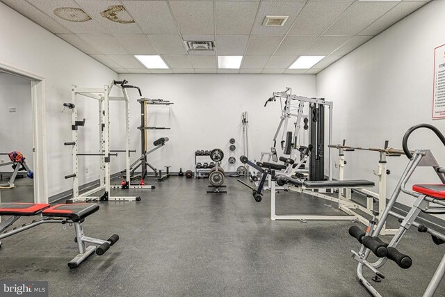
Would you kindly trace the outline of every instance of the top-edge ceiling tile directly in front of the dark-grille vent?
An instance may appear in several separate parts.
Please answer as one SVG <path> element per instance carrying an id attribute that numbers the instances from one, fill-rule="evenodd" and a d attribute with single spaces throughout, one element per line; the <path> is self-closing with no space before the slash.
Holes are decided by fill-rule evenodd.
<path id="1" fill-rule="evenodd" d="M 212 1 L 170 1 L 181 34 L 215 33 Z"/>

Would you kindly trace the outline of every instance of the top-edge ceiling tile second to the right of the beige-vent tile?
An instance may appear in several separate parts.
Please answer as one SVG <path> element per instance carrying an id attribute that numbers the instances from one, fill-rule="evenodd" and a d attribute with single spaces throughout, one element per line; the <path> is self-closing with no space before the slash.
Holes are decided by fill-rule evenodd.
<path id="1" fill-rule="evenodd" d="M 355 35 L 397 4 L 397 1 L 356 1 L 324 34 Z"/>

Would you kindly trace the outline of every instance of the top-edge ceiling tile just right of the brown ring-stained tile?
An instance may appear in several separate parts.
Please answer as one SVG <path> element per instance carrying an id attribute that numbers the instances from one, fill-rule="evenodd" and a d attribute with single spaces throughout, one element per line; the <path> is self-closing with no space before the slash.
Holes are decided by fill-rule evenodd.
<path id="1" fill-rule="evenodd" d="M 144 33 L 179 33 L 166 1 L 122 1 L 122 3 Z"/>

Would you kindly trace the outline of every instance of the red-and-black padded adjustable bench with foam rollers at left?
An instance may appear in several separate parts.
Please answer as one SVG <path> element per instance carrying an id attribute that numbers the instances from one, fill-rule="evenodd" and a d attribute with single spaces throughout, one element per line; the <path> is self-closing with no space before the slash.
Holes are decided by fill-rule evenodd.
<path id="1" fill-rule="evenodd" d="M 99 204 L 90 203 L 56 204 L 51 207 L 51 205 L 46 203 L 1 202 L 0 216 L 10 216 L 10 218 L 0 225 L 0 233 L 2 233 L 0 234 L 0 240 L 44 223 L 74 224 L 74 229 L 76 230 L 74 241 L 79 248 L 79 254 L 68 262 L 68 266 L 75 268 L 93 252 L 96 252 L 99 256 L 104 255 L 104 252 L 119 240 L 118 234 L 112 235 L 106 241 L 83 234 L 82 223 L 87 216 L 94 214 L 98 209 Z M 40 218 L 6 231 L 10 225 L 13 225 L 22 216 L 39 216 Z M 86 243 L 92 243 L 93 246 L 86 246 Z M 0 247 L 1 245 L 0 241 Z"/>

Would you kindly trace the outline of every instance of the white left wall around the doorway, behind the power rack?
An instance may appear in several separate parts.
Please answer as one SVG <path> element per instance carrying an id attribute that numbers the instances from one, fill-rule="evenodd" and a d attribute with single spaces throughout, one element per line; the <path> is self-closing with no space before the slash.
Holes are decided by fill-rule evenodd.
<path id="1" fill-rule="evenodd" d="M 118 75 L 101 63 L 83 54 L 67 42 L 60 40 L 26 17 L 0 3 L 0 64 L 37 74 L 45 79 L 47 109 L 47 153 L 49 195 L 72 188 L 71 180 L 63 176 L 72 173 L 70 147 L 64 147 L 71 139 L 68 112 L 62 113 L 63 102 L 71 101 L 70 86 L 99 87 Z M 94 103 L 94 102 L 93 102 Z M 91 107 L 94 106 L 94 107 Z M 96 104 L 79 104 L 88 125 L 81 135 L 82 150 L 97 150 L 97 143 L 90 135 L 97 131 Z M 113 115 L 118 115 L 113 112 Z M 86 143 L 86 139 L 90 143 Z M 82 175 L 81 184 L 97 179 L 98 160 L 94 157 L 81 163 L 90 166 L 88 175 Z"/>

